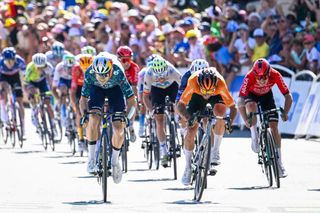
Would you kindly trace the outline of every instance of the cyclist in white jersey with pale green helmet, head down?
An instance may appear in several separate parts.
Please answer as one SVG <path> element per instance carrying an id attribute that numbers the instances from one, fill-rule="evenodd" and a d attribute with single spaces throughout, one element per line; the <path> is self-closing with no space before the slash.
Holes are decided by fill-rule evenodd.
<path id="1" fill-rule="evenodd" d="M 174 102 L 180 82 L 181 74 L 179 71 L 161 56 L 153 59 L 152 65 L 148 68 L 144 77 L 143 101 L 149 112 L 153 108 L 159 107 L 158 110 L 155 110 L 154 117 L 157 126 L 157 138 L 160 143 L 161 165 L 164 167 L 168 165 L 169 160 L 164 126 L 165 97 L 169 96 L 170 101 Z"/>

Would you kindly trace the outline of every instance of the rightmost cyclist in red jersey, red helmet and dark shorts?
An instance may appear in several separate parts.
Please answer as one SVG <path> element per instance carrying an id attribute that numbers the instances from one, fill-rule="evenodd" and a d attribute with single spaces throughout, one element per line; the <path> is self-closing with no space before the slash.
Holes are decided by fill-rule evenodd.
<path id="1" fill-rule="evenodd" d="M 292 105 L 292 95 L 288 86 L 283 81 L 281 74 L 271 68 L 269 62 L 263 58 L 255 61 L 252 69 L 245 76 L 240 88 L 238 108 L 241 117 L 251 131 L 252 144 L 251 148 L 254 152 L 259 152 L 257 118 L 254 117 L 252 122 L 249 121 L 248 114 L 257 111 L 257 103 L 261 104 L 262 111 L 276 108 L 272 87 L 277 84 L 281 93 L 285 97 L 284 112 L 281 114 L 283 121 L 288 120 L 288 112 Z M 269 126 L 275 139 L 278 150 L 278 162 L 280 169 L 280 177 L 286 177 L 287 173 L 281 160 L 281 135 L 278 131 L 278 113 L 269 116 Z"/>

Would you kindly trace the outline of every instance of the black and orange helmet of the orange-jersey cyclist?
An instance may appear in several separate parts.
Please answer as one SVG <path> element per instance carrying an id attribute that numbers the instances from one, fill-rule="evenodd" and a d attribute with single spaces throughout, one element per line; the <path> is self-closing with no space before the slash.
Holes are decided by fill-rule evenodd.
<path id="1" fill-rule="evenodd" d="M 202 93 L 213 93 L 217 86 L 218 78 L 212 69 L 203 69 L 199 73 L 198 83 Z"/>

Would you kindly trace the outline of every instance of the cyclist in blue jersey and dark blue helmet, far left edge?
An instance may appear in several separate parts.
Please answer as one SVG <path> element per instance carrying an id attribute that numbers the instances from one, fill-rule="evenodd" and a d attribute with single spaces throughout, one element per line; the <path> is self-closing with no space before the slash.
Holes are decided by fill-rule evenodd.
<path id="1" fill-rule="evenodd" d="M 26 64 L 19 55 L 16 54 L 16 50 L 13 47 L 7 47 L 3 49 L 0 57 L 0 108 L 1 108 L 1 120 L 3 123 L 8 122 L 8 114 L 5 110 L 7 105 L 9 85 L 14 90 L 19 103 L 19 113 L 22 119 L 22 128 L 24 131 L 24 106 L 23 106 L 23 94 L 20 81 L 20 72 L 23 73 L 26 70 Z"/>

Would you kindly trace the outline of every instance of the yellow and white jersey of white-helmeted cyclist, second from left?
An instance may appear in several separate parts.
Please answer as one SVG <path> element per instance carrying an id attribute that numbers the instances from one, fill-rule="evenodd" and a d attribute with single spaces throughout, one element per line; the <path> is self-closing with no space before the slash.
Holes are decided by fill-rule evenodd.
<path id="1" fill-rule="evenodd" d="M 46 67 L 43 70 L 39 70 L 33 62 L 30 62 L 26 69 L 24 81 L 27 83 L 40 82 L 45 79 L 46 75 L 51 76 L 52 71 L 53 67 L 49 63 L 47 63 Z"/>

